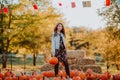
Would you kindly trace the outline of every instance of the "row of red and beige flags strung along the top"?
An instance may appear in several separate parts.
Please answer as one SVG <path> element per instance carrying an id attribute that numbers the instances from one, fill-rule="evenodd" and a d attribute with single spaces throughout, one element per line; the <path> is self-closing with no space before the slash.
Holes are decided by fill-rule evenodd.
<path id="1" fill-rule="evenodd" d="M 34 0 L 30 0 L 32 2 L 32 6 L 34 8 L 34 10 L 38 10 L 38 5 L 34 2 Z M 120 5 L 120 0 L 117 0 L 117 4 Z M 86 0 L 86 1 L 82 1 L 82 5 L 83 7 L 91 7 L 91 0 Z M 110 6 L 111 5 L 111 0 L 105 0 L 105 5 L 106 6 Z M 63 3 L 59 2 L 58 6 L 62 7 Z M 76 3 L 75 2 L 71 2 L 71 8 L 75 8 L 76 7 Z M 3 9 L 0 9 L 0 13 L 8 13 L 8 8 L 6 6 L 3 7 Z"/>

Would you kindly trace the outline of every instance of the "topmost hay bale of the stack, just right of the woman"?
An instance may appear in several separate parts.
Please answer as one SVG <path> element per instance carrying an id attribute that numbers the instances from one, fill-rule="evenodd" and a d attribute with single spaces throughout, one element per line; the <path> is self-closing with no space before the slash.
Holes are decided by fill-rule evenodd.
<path id="1" fill-rule="evenodd" d="M 86 53 L 84 50 L 67 50 L 67 57 L 68 59 L 71 58 L 84 58 L 86 56 Z"/>

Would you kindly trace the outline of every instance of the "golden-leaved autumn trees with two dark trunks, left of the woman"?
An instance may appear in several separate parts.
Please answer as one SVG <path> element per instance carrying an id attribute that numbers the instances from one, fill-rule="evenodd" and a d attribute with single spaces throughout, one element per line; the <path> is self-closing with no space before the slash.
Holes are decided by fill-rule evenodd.
<path id="1" fill-rule="evenodd" d="M 39 50 L 42 50 L 41 45 L 50 45 L 50 39 L 48 39 L 51 36 L 50 27 L 58 21 L 60 15 L 54 12 L 54 8 L 48 5 L 47 0 L 36 0 L 35 3 L 42 4 L 41 11 L 31 9 L 32 2 L 22 0 L 17 4 L 8 4 L 8 14 L 0 14 L 0 48 L 3 54 L 3 68 L 7 67 L 8 52 L 26 48 L 33 53 L 33 63 L 36 65 L 36 55 Z M 48 31 L 46 36 L 44 36 L 45 30 Z"/>

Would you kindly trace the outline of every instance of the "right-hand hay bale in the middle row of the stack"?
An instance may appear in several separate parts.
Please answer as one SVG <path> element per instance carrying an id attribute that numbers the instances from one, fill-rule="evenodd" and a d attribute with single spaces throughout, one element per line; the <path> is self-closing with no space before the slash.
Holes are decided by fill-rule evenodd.
<path id="1" fill-rule="evenodd" d="M 78 65 L 95 65 L 95 60 L 89 59 L 89 58 L 78 59 L 77 64 Z"/>

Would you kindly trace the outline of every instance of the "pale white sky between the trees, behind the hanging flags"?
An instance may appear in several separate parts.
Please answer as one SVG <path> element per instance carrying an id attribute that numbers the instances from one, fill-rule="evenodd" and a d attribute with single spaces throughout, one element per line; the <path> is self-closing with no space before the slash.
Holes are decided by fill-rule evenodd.
<path id="1" fill-rule="evenodd" d="M 52 0 L 52 5 L 64 15 L 63 18 L 70 27 L 104 28 L 105 21 L 98 16 L 97 9 L 105 6 L 105 0 L 91 0 L 90 8 L 83 8 L 82 1 L 85 0 Z M 76 3 L 75 8 L 71 8 L 71 2 Z M 59 3 L 62 3 L 62 6 L 59 6 Z"/>

